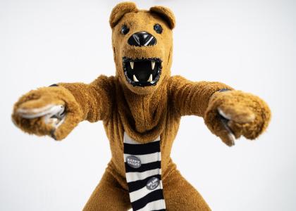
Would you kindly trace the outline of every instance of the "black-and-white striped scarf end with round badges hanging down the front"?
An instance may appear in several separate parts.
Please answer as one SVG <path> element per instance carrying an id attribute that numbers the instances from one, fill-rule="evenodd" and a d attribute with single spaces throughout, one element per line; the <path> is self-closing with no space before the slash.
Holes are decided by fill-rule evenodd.
<path id="1" fill-rule="evenodd" d="M 166 210 L 161 182 L 160 137 L 149 143 L 138 143 L 124 133 L 123 145 L 132 210 Z"/>

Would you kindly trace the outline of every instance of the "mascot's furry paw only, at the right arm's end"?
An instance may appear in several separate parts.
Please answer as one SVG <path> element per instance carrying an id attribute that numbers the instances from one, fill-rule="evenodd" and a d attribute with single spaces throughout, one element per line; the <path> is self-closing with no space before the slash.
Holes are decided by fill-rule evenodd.
<path id="1" fill-rule="evenodd" d="M 228 146 L 245 136 L 256 139 L 269 124 L 271 111 L 261 98 L 242 91 L 216 92 L 209 101 L 204 122 Z"/>

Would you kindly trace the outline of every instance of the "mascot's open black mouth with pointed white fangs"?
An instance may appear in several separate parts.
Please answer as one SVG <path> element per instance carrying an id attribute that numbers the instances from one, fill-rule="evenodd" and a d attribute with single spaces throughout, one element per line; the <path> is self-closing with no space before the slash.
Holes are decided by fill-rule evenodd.
<path id="1" fill-rule="evenodd" d="M 161 59 L 123 57 L 123 71 L 134 87 L 155 86 L 161 75 Z"/>

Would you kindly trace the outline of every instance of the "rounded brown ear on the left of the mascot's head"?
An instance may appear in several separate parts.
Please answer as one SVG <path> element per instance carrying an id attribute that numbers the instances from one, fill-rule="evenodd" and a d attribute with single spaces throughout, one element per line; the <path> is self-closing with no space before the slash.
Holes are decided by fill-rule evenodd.
<path id="1" fill-rule="evenodd" d="M 110 15 L 109 23 L 111 28 L 115 27 L 125 13 L 137 12 L 137 6 L 133 2 L 122 2 L 117 4 Z"/>

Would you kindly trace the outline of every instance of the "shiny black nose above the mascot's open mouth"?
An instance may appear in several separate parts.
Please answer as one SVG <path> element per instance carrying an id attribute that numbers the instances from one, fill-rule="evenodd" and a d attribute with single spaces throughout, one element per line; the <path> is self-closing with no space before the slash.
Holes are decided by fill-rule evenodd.
<path id="1" fill-rule="evenodd" d="M 128 39 L 131 46 L 154 46 L 156 42 L 156 38 L 148 32 L 136 32 Z"/>

